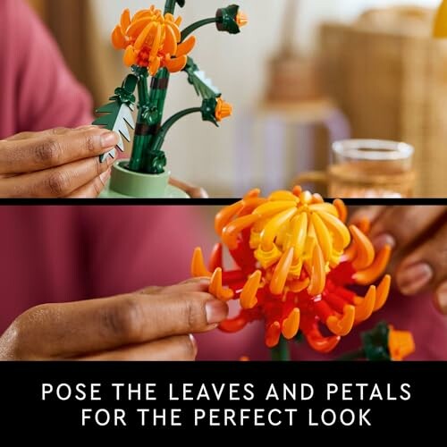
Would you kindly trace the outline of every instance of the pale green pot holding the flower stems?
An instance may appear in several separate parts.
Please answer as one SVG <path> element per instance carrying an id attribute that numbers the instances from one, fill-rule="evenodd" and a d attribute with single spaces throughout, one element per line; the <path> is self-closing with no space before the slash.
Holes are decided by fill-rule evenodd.
<path id="1" fill-rule="evenodd" d="M 112 166 L 112 176 L 100 198 L 190 198 L 186 192 L 169 184 L 171 173 L 133 173 L 125 168 L 129 160 Z"/>

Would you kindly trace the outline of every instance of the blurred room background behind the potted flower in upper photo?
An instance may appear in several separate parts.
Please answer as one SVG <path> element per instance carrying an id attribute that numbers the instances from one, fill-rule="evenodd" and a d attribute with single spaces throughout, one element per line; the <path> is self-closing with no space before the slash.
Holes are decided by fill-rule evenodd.
<path id="1" fill-rule="evenodd" d="M 122 10 L 164 5 L 162 0 L 29 1 L 96 105 L 106 102 L 127 72 L 110 43 Z M 214 16 L 227 3 L 187 0 L 177 14 L 189 24 Z M 447 44 L 431 38 L 440 0 L 236 3 L 249 15 L 249 25 L 236 36 L 214 26 L 198 30 L 192 54 L 234 106 L 233 117 L 220 129 L 195 115 L 173 128 L 165 150 L 175 177 L 217 197 L 290 187 L 294 181 L 316 181 L 314 189 L 324 193 L 329 181 L 331 192 L 334 140 L 389 139 L 409 143 L 415 152 L 412 167 L 401 166 L 398 187 L 393 173 L 375 177 L 381 190 L 447 195 Z M 185 75 L 174 75 L 166 117 L 198 104 Z M 363 184 L 365 175 L 359 173 L 354 183 L 368 195 L 374 185 Z"/>

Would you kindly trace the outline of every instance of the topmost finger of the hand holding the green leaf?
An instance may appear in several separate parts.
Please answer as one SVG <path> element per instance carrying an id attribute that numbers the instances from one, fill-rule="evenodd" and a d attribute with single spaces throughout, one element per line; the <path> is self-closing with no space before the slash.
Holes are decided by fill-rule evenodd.
<path id="1" fill-rule="evenodd" d="M 0 174 L 32 173 L 100 156 L 119 140 L 116 133 L 100 128 L 50 132 L 0 141 Z"/>

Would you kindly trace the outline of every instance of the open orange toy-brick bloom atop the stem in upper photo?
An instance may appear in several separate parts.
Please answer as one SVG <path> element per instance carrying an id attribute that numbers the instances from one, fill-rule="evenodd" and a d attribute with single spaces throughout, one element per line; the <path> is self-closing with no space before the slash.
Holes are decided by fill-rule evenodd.
<path id="1" fill-rule="evenodd" d="M 132 18 L 126 9 L 114 29 L 112 42 L 116 49 L 125 50 L 124 63 L 128 66 L 148 67 L 151 76 L 164 67 L 169 72 L 180 72 L 196 44 L 194 36 L 181 42 L 180 25 L 181 17 L 163 15 L 154 5 Z"/>

